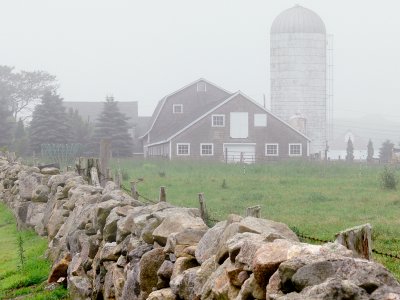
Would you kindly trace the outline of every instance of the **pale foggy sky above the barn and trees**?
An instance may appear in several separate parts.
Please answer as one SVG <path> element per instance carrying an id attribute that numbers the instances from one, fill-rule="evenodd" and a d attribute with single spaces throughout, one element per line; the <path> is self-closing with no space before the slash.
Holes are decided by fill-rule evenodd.
<path id="1" fill-rule="evenodd" d="M 1 0 L 0 64 L 56 75 L 66 101 L 112 94 L 141 115 L 200 77 L 262 103 L 271 24 L 296 3 L 334 35 L 335 117 L 400 119 L 398 0 Z"/>

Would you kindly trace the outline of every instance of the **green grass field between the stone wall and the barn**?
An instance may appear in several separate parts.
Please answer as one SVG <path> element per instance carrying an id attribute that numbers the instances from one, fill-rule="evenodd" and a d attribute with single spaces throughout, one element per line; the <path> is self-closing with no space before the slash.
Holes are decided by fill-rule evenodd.
<path id="1" fill-rule="evenodd" d="M 383 166 L 365 163 L 285 162 L 226 165 L 199 162 L 116 160 L 141 195 L 158 199 L 166 186 L 167 201 L 198 207 L 203 192 L 211 216 L 243 215 L 261 205 L 262 217 L 280 221 L 300 232 L 331 240 L 340 230 L 370 223 L 374 248 L 400 254 L 400 191 L 380 186 Z M 399 176 L 400 171 L 395 170 Z M 129 187 L 129 180 L 124 181 Z M 144 200 L 143 198 L 141 200 Z M 374 255 L 400 279 L 400 260 Z"/>

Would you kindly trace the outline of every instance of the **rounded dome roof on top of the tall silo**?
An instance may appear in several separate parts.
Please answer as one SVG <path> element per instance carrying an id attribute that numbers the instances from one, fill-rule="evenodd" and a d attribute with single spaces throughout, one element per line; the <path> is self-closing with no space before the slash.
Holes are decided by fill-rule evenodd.
<path id="1" fill-rule="evenodd" d="M 272 33 L 323 33 L 325 24 L 315 12 L 300 5 L 283 11 L 271 26 Z"/>

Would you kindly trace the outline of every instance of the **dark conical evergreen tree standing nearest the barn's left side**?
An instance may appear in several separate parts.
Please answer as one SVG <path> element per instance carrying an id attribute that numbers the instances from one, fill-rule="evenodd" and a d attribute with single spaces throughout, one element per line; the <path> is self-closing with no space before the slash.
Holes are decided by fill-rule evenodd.
<path id="1" fill-rule="evenodd" d="M 130 156 L 133 151 L 133 140 L 128 130 L 128 117 L 119 111 L 118 102 L 113 97 L 107 97 L 103 111 L 94 127 L 93 151 L 98 153 L 101 139 L 111 140 L 114 156 Z"/>

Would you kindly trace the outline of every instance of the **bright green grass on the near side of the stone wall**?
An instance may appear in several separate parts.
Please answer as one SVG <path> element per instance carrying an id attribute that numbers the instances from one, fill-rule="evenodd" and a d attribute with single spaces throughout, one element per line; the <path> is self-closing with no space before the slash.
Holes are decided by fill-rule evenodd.
<path id="1" fill-rule="evenodd" d="M 18 251 L 19 236 L 23 240 L 23 265 Z M 51 267 L 44 258 L 46 249 L 47 239 L 30 230 L 18 231 L 12 213 L 0 203 L 0 299 L 66 299 L 65 288 L 45 290 Z"/>

